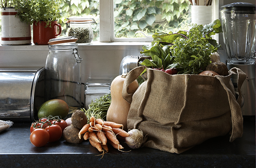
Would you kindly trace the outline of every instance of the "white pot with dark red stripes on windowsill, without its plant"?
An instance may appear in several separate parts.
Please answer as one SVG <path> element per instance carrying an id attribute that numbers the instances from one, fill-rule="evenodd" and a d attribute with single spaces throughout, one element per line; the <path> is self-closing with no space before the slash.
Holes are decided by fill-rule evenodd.
<path id="1" fill-rule="evenodd" d="M 20 21 L 12 7 L 1 8 L 2 45 L 31 44 L 30 24 Z"/>

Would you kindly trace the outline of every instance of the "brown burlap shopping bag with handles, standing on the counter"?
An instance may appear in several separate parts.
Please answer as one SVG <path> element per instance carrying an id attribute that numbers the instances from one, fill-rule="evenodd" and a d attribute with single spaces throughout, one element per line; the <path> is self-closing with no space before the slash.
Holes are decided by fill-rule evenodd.
<path id="1" fill-rule="evenodd" d="M 144 146 L 182 153 L 209 138 L 231 134 L 230 142 L 243 134 L 241 96 L 236 99 L 231 75 L 238 75 L 238 93 L 246 74 L 238 68 L 224 76 L 169 75 L 147 68 L 147 80 L 134 94 L 128 85 L 145 69 L 131 70 L 125 78 L 123 98 L 131 103 L 128 128 L 147 135 Z"/>

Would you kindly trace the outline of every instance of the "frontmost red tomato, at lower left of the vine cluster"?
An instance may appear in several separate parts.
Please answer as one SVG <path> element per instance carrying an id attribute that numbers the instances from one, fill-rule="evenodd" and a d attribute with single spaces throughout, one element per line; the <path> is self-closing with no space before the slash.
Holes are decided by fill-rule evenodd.
<path id="1" fill-rule="evenodd" d="M 50 135 L 48 131 L 43 128 L 36 128 L 30 134 L 30 142 L 37 147 L 45 146 L 48 143 Z"/>

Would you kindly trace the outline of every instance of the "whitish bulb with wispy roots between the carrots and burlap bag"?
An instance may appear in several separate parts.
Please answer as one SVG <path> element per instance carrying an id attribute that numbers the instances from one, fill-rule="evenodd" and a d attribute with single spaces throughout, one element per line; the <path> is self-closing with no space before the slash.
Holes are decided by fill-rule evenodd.
<path id="1" fill-rule="evenodd" d="M 132 129 L 128 131 L 129 136 L 125 137 L 125 143 L 132 148 L 137 149 L 140 148 L 143 144 L 143 132 L 138 129 Z"/>

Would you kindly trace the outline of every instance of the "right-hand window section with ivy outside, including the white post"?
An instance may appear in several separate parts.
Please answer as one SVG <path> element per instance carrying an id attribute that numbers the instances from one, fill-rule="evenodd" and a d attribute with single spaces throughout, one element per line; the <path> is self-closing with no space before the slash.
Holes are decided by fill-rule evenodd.
<path id="1" fill-rule="evenodd" d="M 100 42 L 150 42 L 156 31 L 187 30 L 189 5 L 188 0 L 100 0 Z"/>

